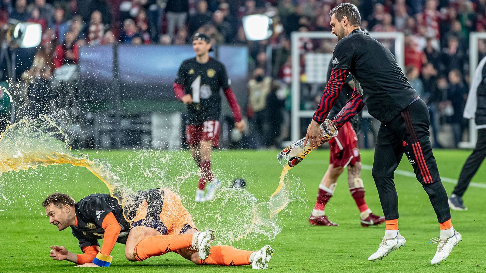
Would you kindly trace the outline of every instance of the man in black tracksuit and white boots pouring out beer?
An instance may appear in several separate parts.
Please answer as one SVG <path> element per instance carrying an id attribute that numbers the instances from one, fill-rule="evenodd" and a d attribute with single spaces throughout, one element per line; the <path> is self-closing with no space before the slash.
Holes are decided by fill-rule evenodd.
<path id="1" fill-rule="evenodd" d="M 331 77 L 308 127 L 306 142 L 319 146 L 324 141 L 319 125 L 328 116 L 349 72 L 355 90 L 351 99 L 331 121 L 339 129 L 359 113 L 364 105 L 381 121 L 373 163 L 375 180 L 385 216 L 385 236 L 378 251 L 368 259 L 375 261 L 405 244 L 398 231 L 398 196 L 393 182 L 402 154 L 412 164 L 417 180 L 429 195 L 440 237 L 432 264 L 445 260 L 462 239 L 451 223 L 447 193 L 440 180 L 429 139 L 429 111 L 425 102 L 408 83 L 393 54 L 381 43 L 361 31 L 361 17 L 353 4 L 342 3 L 330 11 L 332 34 L 338 37 L 332 58 Z"/>

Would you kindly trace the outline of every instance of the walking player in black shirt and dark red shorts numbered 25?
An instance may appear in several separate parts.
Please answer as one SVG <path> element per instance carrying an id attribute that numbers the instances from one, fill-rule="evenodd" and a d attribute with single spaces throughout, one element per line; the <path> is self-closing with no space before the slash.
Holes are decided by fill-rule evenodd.
<path id="1" fill-rule="evenodd" d="M 211 149 L 218 147 L 219 118 L 221 115 L 220 88 L 223 88 L 235 118 L 235 128 L 245 127 L 240 105 L 231 90 L 225 66 L 209 57 L 211 41 L 205 34 L 196 33 L 192 37 L 195 58 L 184 60 L 177 72 L 174 93 L 177 99 L 187 105 L 188 125 L 186 139 L 191 155 L 199 167 L 199 185 L 196 202 L 212 200 L 220 181 L 211 171 Z M 206 195 L 204 190 L 209 182 Z"/>

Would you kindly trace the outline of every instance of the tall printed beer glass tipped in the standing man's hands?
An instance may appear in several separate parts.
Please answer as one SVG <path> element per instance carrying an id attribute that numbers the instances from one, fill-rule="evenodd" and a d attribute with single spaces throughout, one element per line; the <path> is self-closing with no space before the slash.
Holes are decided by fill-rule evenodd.
<path id="1" fill-rule="evenodd" d="M 324 120 L 320 128 L 322 137 L 330 138 L 337 136 L 337 128 L 329 119 Z M 305 137 L 302 137 L 277 154 L 278 162 L 280 162 L 280 165 L 282 165 L 284 169 L 286 167 L 289 169 L 295 167 L 295 165 L 299 164 L 315 149 L 315 147 L 311 147 L 310 142 L 307 142 L 307 145 L 304 146 L 304 140 Z"/>

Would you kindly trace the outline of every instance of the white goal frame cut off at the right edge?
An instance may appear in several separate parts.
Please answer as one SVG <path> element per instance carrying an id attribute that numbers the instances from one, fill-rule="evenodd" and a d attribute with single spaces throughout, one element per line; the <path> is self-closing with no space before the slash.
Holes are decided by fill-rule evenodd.
<path id="1" fill-rule="evenodd" d="M 479 60 L 478 50 L 479 40 L 486 40 L 486 33 L 471 32 L 469 34 L 469 79 L 474 77 L 474 71 L 481 61 Z M 468 141 L 459 142 L 459 148 L 474 148 L 477 139 L 478 132 L 476 131 L 476 122 L 474 119 L 469 119 L 469 139 Z"/>

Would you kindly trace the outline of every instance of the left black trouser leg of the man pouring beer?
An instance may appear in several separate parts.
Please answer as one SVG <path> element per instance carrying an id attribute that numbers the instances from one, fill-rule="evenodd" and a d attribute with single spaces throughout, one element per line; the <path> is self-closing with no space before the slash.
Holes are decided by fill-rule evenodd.
<path id="1" fill-rule="evenodd" d="M 385 220 L 399 218 L 398 195 L 393 178 L 402 154 L 401 143 L 386 127 L 381 125 L 376 140 L 372 174 Z"/>

